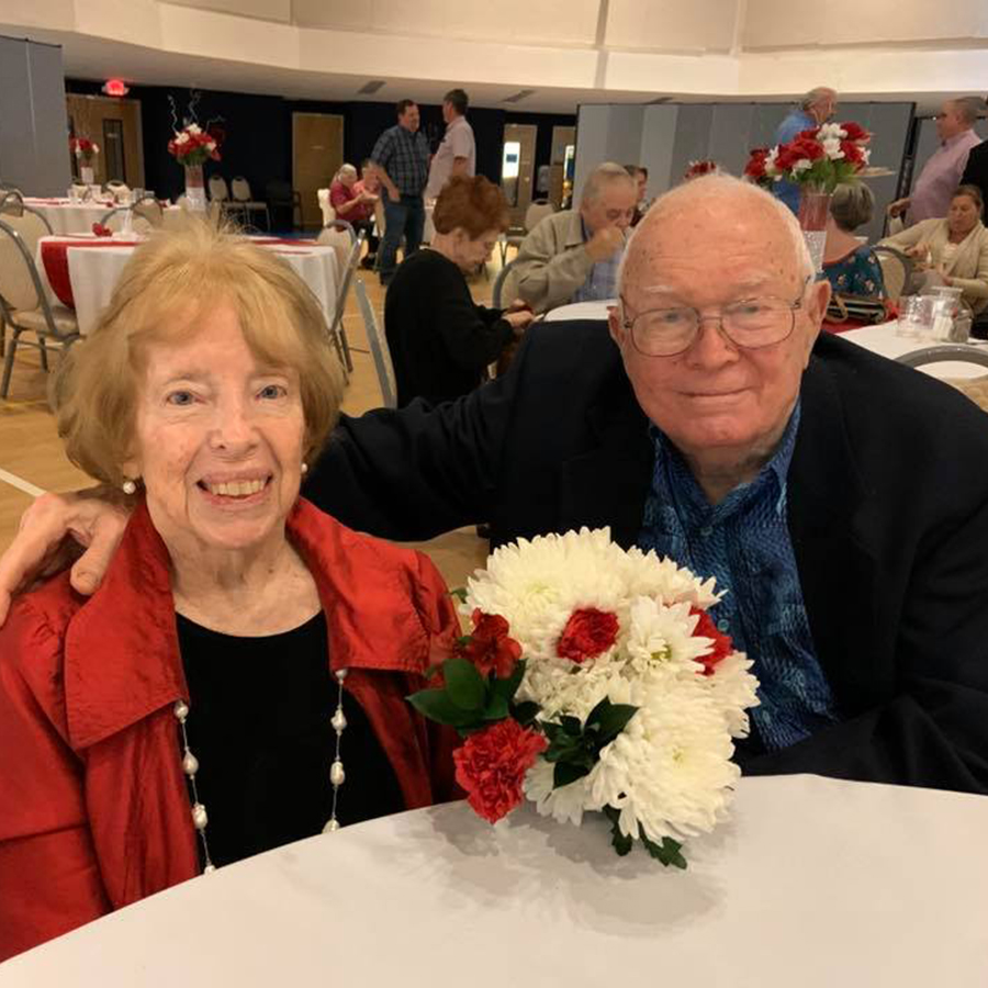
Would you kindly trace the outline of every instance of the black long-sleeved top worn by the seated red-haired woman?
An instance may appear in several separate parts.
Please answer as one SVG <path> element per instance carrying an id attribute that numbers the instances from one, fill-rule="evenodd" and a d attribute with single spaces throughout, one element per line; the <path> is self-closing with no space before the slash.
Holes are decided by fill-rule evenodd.
<path id="1" fill-rule="evenodd" d="M 501 310 L 475 304 L 463 272 L 435 250 L 416 251 L 394 272 L 384 334 L 398 407 L 415 397 L 439 404 L 473 391 L 513 337 Z"/>

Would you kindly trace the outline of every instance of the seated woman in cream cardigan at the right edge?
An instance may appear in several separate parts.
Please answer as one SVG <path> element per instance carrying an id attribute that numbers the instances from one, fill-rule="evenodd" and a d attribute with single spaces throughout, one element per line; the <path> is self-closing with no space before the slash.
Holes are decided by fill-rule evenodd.
<path id="1" fill-rule="evenodd" d="M 886 237 L 928 268 L 938 283 L 963 289 L 961 295 L 974 313 L 988 308 L 988 229 L 981 223 L 985 203 L 977 186 L 961 186 L 944 220 L 923 220 Z"/>

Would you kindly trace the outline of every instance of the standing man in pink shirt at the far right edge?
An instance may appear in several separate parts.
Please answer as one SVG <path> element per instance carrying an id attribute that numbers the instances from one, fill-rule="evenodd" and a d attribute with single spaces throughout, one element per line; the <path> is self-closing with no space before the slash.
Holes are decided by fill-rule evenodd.
<path id="1" fill-rule="evenodd" d="M 967 166 L 967 156 L 981 143 L 974 131 L 981 101 L 973 97 L 947 100 L 936 114 L 940 147 L 930 156 L 912 187 L 912 194 L 889 203 L 889 216 L 905 213 L 907 226 L 922 220 L 942 220 Z"/>

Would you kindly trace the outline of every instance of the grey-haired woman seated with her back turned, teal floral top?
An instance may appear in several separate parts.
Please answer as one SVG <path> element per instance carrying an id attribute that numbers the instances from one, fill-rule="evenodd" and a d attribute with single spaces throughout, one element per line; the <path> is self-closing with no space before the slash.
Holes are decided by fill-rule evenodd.
<path id="1" fill-rule="evenodd" d="M 864 182 L 838 186 L 830 201 L 823 273 L 840 294 L 885 295 L 882 266 L 872 248 L 854 236 L 854 231 L 871 222 L 875 197 Z"/>

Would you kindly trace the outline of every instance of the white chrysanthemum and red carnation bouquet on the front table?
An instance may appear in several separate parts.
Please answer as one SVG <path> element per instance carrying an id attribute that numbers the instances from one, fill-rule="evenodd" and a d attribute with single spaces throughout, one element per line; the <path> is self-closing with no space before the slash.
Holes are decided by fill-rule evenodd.
<path id="1" fill-rule="evenodd" d="M 459 592 L 471 633 L 409 697 L 464 739 L 470 806 L 491 822 L 525 798 L 561 823 L 602 815 L 618 854 L 685 867 L 682 842 L 727 813 L 731 739 L 759 701 L 707 613 L 714 587 L 608 529 L 497 549 Z"/>

